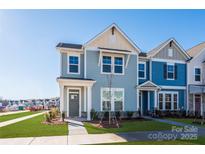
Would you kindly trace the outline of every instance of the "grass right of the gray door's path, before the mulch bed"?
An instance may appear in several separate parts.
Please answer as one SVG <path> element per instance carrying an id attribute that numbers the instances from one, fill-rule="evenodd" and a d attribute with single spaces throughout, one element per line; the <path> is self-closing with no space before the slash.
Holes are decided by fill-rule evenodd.
<path id="1" fill-rule="evenodd" d="M 84 123 L 84 125 L 89 134 L 171 130 L 172 128 L 172 125 L 151 121 L 151 120 L 139 120 L 139 121 L 136 120 L 136 121 L 123 122 L 121 123 L 120 128 L 97 128 L 88 122 Z"/>

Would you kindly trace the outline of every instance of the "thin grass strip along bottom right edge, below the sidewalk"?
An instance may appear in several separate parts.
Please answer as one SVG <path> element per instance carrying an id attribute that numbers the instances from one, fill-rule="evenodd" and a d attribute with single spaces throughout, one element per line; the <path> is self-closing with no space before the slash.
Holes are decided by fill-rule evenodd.
<path id="1" fill-rule="evenodd" d="M 106 143 L 101 145 L 205 145 L 205 137 L 199 137 L 197 140 L 189 141 L 131 141 L 131 142 L 118 142 Z"/>

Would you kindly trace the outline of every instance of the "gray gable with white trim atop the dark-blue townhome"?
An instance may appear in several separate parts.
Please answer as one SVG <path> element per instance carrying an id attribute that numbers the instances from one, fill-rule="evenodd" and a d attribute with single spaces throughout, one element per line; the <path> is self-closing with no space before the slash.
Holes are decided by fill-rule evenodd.
<path id="1" fill-rule="evenodd" d="M 168 49 L 173 49 L 173 56 L 168 56 Z M 181 47 L 181 45 L 174 39 L 171 38 L 148 53 L 149 58 L 161 58 L 161 59 L 172 59 L 172 60 L 188 60 L 190 56 Z"/>

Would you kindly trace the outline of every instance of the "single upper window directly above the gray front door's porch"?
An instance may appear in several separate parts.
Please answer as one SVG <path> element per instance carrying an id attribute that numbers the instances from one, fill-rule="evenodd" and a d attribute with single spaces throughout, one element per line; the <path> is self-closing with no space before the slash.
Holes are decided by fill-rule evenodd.
<path id="1" fill-rule="evenodd" d="M 79 74 L 79 56 L 68 57 L 68 73 Z"/>

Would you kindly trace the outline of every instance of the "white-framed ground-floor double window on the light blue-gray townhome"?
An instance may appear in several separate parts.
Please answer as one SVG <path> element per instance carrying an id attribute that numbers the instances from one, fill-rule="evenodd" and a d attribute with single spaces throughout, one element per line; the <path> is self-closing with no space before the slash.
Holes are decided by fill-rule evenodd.
<path id="1" fill-rule="evenodd" d="M 101 89 L 102 111 L 122 111 L 124 105 L 123 88 Z"/>

